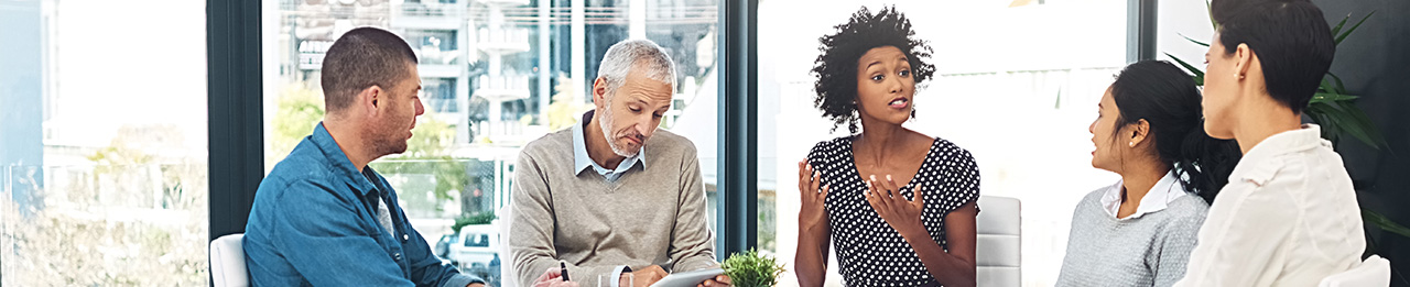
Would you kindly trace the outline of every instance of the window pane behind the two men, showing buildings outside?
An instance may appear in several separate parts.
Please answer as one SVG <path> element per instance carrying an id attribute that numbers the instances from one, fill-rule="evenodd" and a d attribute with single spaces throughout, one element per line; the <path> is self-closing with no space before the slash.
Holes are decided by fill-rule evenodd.
<path id="1" fill-rule="evenodd" d="M 574 8 L 574 3 L 582 7 Z M 592 108 L 606 48 L 647 38 L 677 63 L 663 128 L 694 141 L 713 214 L 718 0 L 265 0 L 266 169 L 323 117 L 323 52 L 354 27 L 386 28 L 416 51 L 426 114 L 407 153 L 371 166 L 400 194 L 443 260 L 498 284 L 519 149 Z M 578 21 L 574 21 L 578 18 Z M 712 218 L 713 219 L 713 218 Z M 711 224 L 713 227 L 713 221 Z"/>

